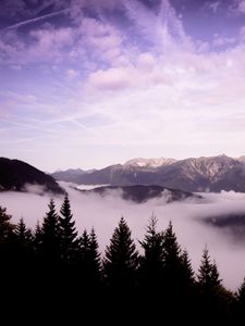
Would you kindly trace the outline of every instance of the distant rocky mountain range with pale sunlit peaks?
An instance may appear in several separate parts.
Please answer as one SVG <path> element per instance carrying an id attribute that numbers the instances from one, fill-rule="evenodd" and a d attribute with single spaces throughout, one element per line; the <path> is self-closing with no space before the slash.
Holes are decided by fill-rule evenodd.
<path id="1" fill-rule="evenodd" d="M 78 185 L 159 185 L 184 191 L 245 192 L 245 162 L 226 155 L 210 158 L 134 159 L 72 179 Z"/>

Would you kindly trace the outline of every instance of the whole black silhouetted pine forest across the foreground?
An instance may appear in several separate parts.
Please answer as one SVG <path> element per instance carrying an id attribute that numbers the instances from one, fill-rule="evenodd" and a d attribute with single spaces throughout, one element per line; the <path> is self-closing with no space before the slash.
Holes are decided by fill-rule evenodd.
<path id="1" fill-rule="evenodd" d="M 128 316 L 150 322 L 171 317 L 172 323 L 197 322 L 197 316 L 206 323 L 244 319 L 245 281 L 235 293 L 225 289 L 207 248 L 195 275 L 171 222 L 158 231 L 151 216 L 139 246 L 142 254 L 121 217 L 101 255 L 94 228 L 78 236 L 68 196 L 59 212 L 50 200 L 34 230 L 23 218 L 14 225 L 0 208 L 1 294 L 7 302 L 10 298 L 10 305 L 24 300 L 27 310 L 46 304 L 53 312 L 60 303 L 59 315 L 75 306 L 81 314 L 90 310 L 95 312 L 90 318 L 102 308 L 120 321 Z"/>

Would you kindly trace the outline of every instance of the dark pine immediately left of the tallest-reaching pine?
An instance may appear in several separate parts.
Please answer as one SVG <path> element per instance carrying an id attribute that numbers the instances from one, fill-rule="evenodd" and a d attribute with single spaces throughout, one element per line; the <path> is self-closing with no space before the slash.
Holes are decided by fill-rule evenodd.
<path id="1" fill-rule="evenodd" d="M 60 227 L 53 199 L 49 202 L 41 227 L 41 255 L 45 262 L 56 265 L 60 262 Z"/>

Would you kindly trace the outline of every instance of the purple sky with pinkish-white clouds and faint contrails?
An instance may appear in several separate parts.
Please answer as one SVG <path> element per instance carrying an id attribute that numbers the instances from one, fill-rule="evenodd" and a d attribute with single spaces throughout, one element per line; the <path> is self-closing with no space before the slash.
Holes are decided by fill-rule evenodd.
<path id="1" fill-rule="evenodd" d="M 1 0 L 0 155 L 245 154 L 244 0 Z"/>

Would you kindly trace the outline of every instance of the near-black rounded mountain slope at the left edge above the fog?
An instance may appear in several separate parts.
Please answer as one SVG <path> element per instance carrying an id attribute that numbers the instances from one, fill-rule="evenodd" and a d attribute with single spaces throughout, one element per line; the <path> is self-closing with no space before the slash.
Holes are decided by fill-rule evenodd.
<path id="1" fill-rule="evenodd" d="M 26 191 L 29 185 L 42 186 L 44 191 L 63 193 L 63 189 L 50 175 L 19 161 L 0 158 L 0 190 Z"/>

